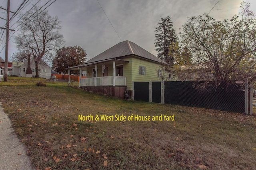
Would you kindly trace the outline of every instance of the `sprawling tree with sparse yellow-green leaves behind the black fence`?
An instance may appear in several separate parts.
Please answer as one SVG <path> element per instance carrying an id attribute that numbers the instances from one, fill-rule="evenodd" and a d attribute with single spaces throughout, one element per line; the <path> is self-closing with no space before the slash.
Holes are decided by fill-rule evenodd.
<path id="1" fill-rule="evenodd" d="M 196 80 L 256 79 L 256 17 L 242 2 L 241 12 L 228 21 L 216 21 L 207 14 L 188 18 L 180 43 L 192 56 Z M 195 73 L 194 73 L 195 74 Z"/>

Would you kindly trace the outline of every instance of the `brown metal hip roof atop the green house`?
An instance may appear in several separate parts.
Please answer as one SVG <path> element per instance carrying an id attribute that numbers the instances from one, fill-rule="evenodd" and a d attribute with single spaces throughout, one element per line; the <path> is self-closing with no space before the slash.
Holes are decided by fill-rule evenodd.
<path id="1" fill-rule="evenodd" d="M 150 52 L 146 51 L 142 47 L 138 46 L 137 44 L 126 40 L 114 45 L 110 49 L 107 49 L 103 53 L 100 53 L 99 55 L 88 60 L 84 64 L 104 61 L 108 59 L 114 59 L 114 58 L 128 56 L 128 55 L 136 55 L 138 57 L 142 57 L 151 61 L 156 61 L 158 63 L 165 63 L 164 61 L 154 56 Z"/>

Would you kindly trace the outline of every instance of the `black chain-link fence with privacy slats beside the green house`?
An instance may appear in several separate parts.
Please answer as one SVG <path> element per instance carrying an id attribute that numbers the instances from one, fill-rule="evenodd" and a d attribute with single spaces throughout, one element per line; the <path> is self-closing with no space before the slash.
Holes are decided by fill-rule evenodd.
<path id="1" fill-rule="evenodd" d="M 247 89 L 241 89 L 240 84 L 227 84 L 225 81 L 211 90 L 196 88 L 194 81 L 134 82 L 134 100 L 240 113 L 246 113 L 247 107 L 251 114 L 252 88 Z"/>

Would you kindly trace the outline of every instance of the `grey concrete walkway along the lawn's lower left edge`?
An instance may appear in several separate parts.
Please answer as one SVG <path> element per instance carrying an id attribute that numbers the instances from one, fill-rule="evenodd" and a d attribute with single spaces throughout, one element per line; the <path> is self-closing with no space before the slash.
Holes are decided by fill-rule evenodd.
<path id="1" fill-rule="evenodd" d="M 0 170 L 33 170 L 24 146 L 1 105 L 0 102 Z"/>

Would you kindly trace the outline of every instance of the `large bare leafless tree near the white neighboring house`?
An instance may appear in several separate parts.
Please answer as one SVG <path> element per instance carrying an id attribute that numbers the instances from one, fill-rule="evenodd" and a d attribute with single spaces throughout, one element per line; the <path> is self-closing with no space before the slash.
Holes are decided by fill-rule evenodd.
<path id="1" fill-rule="evenodd" d="M 23 53 L 30 54 L 36 65 L 36 77 L 39 77 L 39 62 L 51 61 L 56 51 L 64 45 L 63 35 L 59 33 L 60 21 L 57 16 L 52 17 L 48 11 L 35 6 L 24 16 L 20 16 L 18 25 L 20 33 L 15 36 L 17 56 L 25 57 Z"/>

